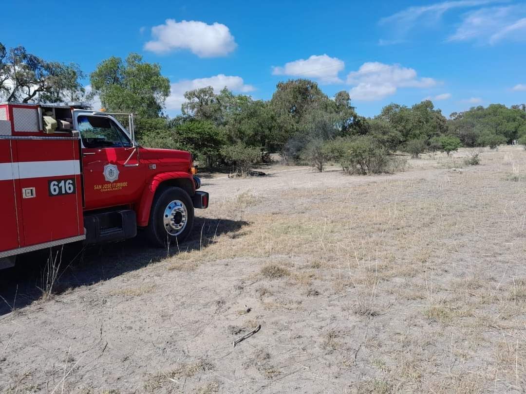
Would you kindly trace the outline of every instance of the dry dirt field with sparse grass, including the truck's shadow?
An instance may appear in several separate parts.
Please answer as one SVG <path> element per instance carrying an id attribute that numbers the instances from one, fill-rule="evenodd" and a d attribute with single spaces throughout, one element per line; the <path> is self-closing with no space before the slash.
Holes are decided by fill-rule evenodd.
<path id="1" fill-rule="evenodd" d="M 185 244 L 0 272 L 0 391 L 526 392 L 526 151 L 469 153 L 203 174 Z"/>

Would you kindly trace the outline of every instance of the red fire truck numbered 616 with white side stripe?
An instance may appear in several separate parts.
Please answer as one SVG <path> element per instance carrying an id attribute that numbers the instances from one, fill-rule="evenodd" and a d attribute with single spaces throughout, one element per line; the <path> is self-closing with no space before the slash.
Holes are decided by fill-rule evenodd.
<path id="1" fill-rule="evenodd" d="M 128 130 L 117 119 L 126 119 Z M 0 268 L 15 256 L 144 229 L 156 246 L 181 242 L 207 208 L 191 154 L 140 147 L 133 114 L 82 103 L 0 103 Z"/>

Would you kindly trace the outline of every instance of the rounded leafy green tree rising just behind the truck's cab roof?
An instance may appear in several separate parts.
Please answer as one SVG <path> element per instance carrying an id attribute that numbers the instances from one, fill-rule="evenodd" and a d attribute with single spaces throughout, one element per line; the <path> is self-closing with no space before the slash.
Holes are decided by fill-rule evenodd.
<path id="1" fill-rule="evenodd" d="M 160 66 L 145 63 L 134 53 L 125 60 L 112 56 L 102 61 L 90 74 L 90 81 L 106 109 L 135 112 L 140 117 L 158 117 L 170 94 L 170 81 L 161 75 Z"/>

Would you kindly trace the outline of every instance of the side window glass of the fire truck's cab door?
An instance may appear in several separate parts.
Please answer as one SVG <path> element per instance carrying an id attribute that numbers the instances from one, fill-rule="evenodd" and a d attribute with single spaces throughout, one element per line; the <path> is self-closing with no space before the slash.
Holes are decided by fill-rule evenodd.
<path id="1" fill-rule="evenodd" d="M 109 118 L 84 116 L 77 118 L 78 131 L 86 148 L 129 148 L 131 141 Z"/>

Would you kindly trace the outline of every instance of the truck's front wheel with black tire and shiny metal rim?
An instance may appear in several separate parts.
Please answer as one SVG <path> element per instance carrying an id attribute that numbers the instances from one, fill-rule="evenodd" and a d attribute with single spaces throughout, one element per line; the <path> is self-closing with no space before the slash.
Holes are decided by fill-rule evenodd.
<path id="1" fill-rule="evenodd" d="M 175 201 L 177 203 L 172 204 Z M 186 217 L 181 213 L 183 206 L 186 209 Z M 184 228 L 177 229 L 183 221 L 185 221 Z M 146 227 L 148 239 L 152 244 L 157 247 L 178 245 L 190 234 L 193 226 L 194 204 L 186 191 L 171 186 L 156 195 Z"/>

